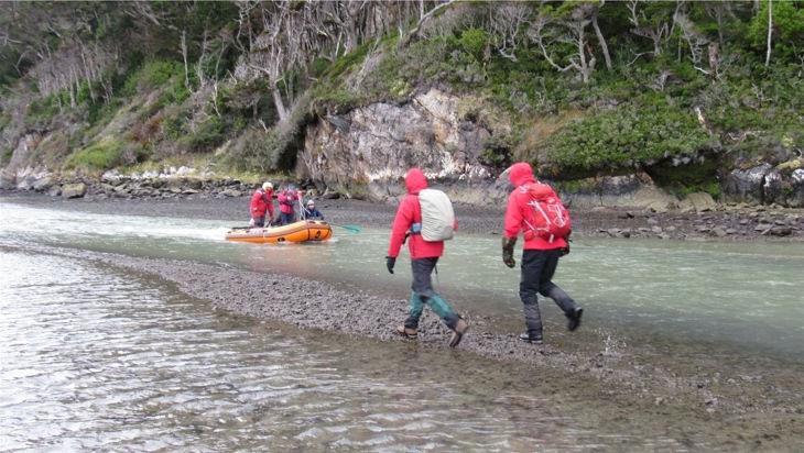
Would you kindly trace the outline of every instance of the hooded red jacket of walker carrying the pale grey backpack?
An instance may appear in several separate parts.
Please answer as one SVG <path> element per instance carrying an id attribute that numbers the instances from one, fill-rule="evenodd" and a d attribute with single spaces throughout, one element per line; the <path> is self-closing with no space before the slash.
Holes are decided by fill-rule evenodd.
<path id="1" fill-rule="evenodd" d="M 422 208 L 419 206 L 419 191 L 427 188 L 427 178 L 419 168 L 411 168 L 405 176 L 408 195 L 396 209 L 396 217 L 391 225 L 391 242 L 388 245 L 388 256 L 399 256 L 402 248 L 402 241 L 405 233 L 414 223 L 422 223 Z M 455 230 L 458 229 L 458 221 L 455 220 Z M 408 237 L 408 251 L 411 259 L 434 258 L 444 254 L 444 241 L 427 242 L 421 234 L 411 234 Z"/>

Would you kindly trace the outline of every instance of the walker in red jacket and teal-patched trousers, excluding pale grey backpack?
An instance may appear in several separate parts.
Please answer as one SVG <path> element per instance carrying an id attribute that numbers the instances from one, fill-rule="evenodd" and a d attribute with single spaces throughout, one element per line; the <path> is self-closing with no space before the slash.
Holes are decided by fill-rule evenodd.
<path id="1" fill-rule="evenodd" d="M 411 254 L 411 268 L 413 270 L 413 284 L 410 299 L 408 319 L 403 325 L 396 329 L 396 333 L 409 339 L 415 339 L 419 334 L 419 319 L 422 317 L 424 305 L 438 314 L 442 321 L 453 331 L 449 339 L 449 347 L 458 345 L 469 324 L 460 318 L 455 310 L 435 290 L 431 281 L 431 274 L 435 268 L 438 258 L 444 254 L 444 241 L 427 242 L 422 235 L 422 210 L 419 205 L 419 192 L 427 188 L 427 179 L 419 168 L 411 168 L 405 175 L 405 187 L 408 195 L 396 210 L 391 228 L 391 241 L 385 256 L 388 272 L 393 274 L 400 248 L 408 239 L 408 250 Z M 455 222 L 457 229 L 457 221 Z"/>

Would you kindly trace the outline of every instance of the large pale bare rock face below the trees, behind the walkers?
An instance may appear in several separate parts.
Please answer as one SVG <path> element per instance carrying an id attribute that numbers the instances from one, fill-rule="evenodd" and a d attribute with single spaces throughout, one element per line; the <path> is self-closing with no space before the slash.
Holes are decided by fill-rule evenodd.
<path id="1" fill-rule="evenodd" d="M 384 199 L 403 189 L 408 168 L 428 178 L 484 183 L 479 162 L 492 132 L 458 118 L 458 98 L 437 89 L 404 104 L 372 103 L 308 128 L 296 174 L 318 189 Z"/>

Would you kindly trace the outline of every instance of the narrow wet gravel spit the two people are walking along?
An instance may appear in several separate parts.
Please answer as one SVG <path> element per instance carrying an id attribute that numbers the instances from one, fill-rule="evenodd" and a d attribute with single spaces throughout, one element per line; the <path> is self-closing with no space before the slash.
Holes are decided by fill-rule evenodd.
<path id="1" fill-rule="evenodd" d="M 180 259 L 141 258 L 39 244 L 0 246 L 0 251 L 56 255 L 154 276 L 188 297 L 207 301 L 213 310 L 335 338 L 348 335 L 406 343 L 406 347 L 414 350 L 470 354 L 501 366 L 530 368 L 540 379 L 568 383 L 566 391 L 600 399 L 601 404 L 613 404 L 621 408 L 623 417 L 650 413 L 661 418 L 674 413 L 674 420 L 699 427 L 709 433 L 708 439 L 721 446 L 738 438 L 774 449 L 785 449 L 791 441 L 802 440 L 798 438 L 801 427 L 794 419 L 804 413 L 804 407 L 798 375 L 793 369 L 770 379 L 754 378 L 745 374 L 743 367 L 710 368 L 708 363 L 697 360 L 667 368 L 651 361 L 650 356 L 634 354 L 624 345 L 610 351 L 609 345 L 599 350 L 599 344 L 591 343 L 582 344 L 576 351 L 565 351 L 567 345 L 561 342 L 530 345 L 517 340 L 518 332 L 500 332 L 492 327 L 491 320 L 471 312 L 465 312 L 471 323 L 469 333 L 456 350 L 449 350 L 446 328 L 428 310 L 422 317 L 417 341 L 401 339 L 392 332 L 406 313 L 404 299 L 378 297 L 368 291 L 345 291 L 335 285 L 294 276 Z M 283 299 L 262 297 L 265 287 L 283 294 Z M 343 300 L 349 300 L 348 310 L 344 310 Z M 735 358 L 726 357 L 726 361 Z M 472 371 L 482 373 L 481 369 Z M 746 429 L 747 426 L 750 428 Z M 769 432 L 772 438 L 767 437 Z"/>

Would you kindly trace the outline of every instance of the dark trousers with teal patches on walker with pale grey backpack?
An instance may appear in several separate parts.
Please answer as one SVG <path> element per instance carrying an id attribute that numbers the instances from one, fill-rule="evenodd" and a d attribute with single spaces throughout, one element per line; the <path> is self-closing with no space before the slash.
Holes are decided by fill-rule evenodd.
<path id="1" fill-rule="evenodd" d="M 458 322 L 458 314 L 453 310 L 453 307 L 433 290 L 431 275 L 437 263 L 437 257 L 411 259 L 413 284 L 411 285 L 410 308 L 408 319 L 405 320 L 405 327 L 409 329 L 416 329 L 419 327 L 419 319 L 422 317 L 422 310 L 425 303 L 438 314 L 449 329 L 454 329 Z"/>

